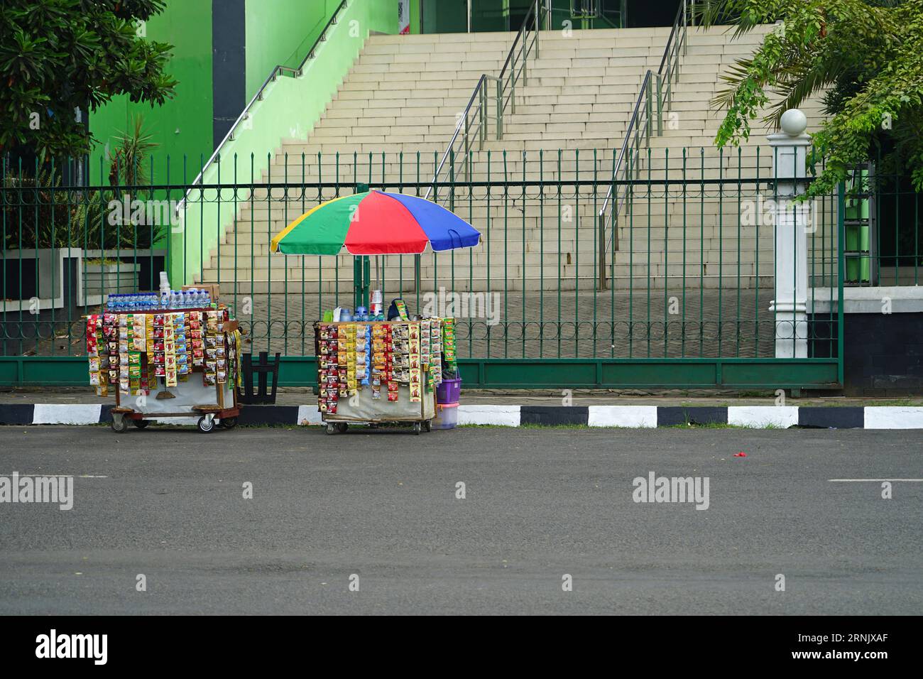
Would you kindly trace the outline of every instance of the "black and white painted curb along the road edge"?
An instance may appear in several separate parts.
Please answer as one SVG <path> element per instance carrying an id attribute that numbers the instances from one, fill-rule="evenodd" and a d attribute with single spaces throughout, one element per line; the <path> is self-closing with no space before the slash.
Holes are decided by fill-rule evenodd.
<path id="1" fill-rule="evenodd" d="M 100 424 L 111 421 L 102 404 L 3 404 L 0 424 Z M 152 418 L 156 420 L 156 418 Z M 195 424 L 196 418 L 171 418 Z M 242 425 L 319 425 L 317 406 L 245 406 Z M 917 406 L 459 406 L 463 424 L 586 425 L 653 428 L 729 424 L 756 429 L 923 429 Z"/>

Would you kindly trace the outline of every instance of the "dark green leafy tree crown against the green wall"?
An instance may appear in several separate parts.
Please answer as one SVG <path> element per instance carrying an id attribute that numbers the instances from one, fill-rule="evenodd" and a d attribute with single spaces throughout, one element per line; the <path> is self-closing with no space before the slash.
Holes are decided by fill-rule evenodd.
<path id="1" fill-rule="evenodd" d="M 0 151 L 28 145 L 41 158 L 90 152 L 83 115 L 126 94 L 162 104 L 176 81 L 172 45 L 138 36 L 165 0 L 0 2 Z"/>

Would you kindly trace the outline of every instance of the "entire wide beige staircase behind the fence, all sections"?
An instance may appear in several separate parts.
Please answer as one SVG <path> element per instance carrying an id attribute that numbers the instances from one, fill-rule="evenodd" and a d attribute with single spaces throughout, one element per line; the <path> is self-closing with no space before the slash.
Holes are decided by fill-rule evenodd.
<path id="1" fill-rule="evenodd" d="M 718 176 L 719 167 L 723 176 L 737 176 L 736 150 L 725 150 L 722 158 L 711 146 L 720 118 L 708 102 L 720 86 L 717 74 L 738 56 L 749 54 L 764 31 L 734 43 L 728 43 L 725 31 L 689 30 L 689 55 L 673 94 L 675 116 L 665 116 L 664 135 L 652 137 L 651 161 L 647 162 L 645 152 L 641 177 L 647 176 L 649 167 L 653 178 L 681 176 L 683 147 L 696 155 L 696 171 L 687 171 L 690 180 L 702 176 L 698 147 L 704 148 L 704 178 Z M 421 287 L 593 288 L 599 254 L 595 215 L 608 188 L 613 150 L 617 152 L 624 138 L 643 74 L 660 64 L 668 33 L 669 29 L 658 28 L 574 31 L 569 37 L 557 31 L 541 34 L 539 58 L 529 60 L 527 80 L 517 85 L 516 110 L 508 111 L 503 139 L 495 139 L 491 117 L 484 149 L 473 144 L 471 180 L 506 178 L 509 187 L 490 188 L 489 196 L 484 187 L 473 188 L 471 195 L 458 187 L 451 196 L 438 196 L 439 202 L 474 224 L 484 242 L 470 252 L 426 253 L 420 264 Z M 220 280 L 223 292 L 243 295 L 351 290 L 351 256 L 270 255 L 271 236 L 318 199 L 334 197 L 338 188 L 340 195 L 351 193 L 356 182 L 426 193 L 426 182 L 477 79 L 482 73 L 499 74 L 513 38 L 513 33 L 369 38 L 318 126 L 307 139 L 284 139 L 261 177 L 264 182 L 285 182 L 288 188 L 275 188 L 271 195 L 266 188 L 255 189 L 252 196 L 238 195 L 236 218 L 223 226 L 222 244 L 203 263 L 202 280 Z M 492 102 L 489 111 L 495 112 Z M 812 113 L 809 110 L 809 119 L 814 121 Z M 743 176 L 755 171 L 758 146 L 762 147 L 761 176 L 769 175 L 768 147 L 755 133 L 741 149 Z M 688 167 L 692 166 L 690 160 Z M 595 188 L 577 191 L 567 183 L 578 177 L 593 179 L 594 173 L 599 182 Z M 521 184 L 515 184 L 523 179 L 542 179 L 546 184 L 526 188 L 523 196 Z M 564 183 L 561 187 L 558 179 Z M 335 186 L 302 189 L 316 183 Z M 623 214 L 615 265 L 608 272 L 617 286 L 627 285 L 629 279 L 650 278 L 648 285 L 662 287 L 665 280 L 681 279 L 684 272 L 690 280 L 693 274 L 701 278 L 703 286 L 726 285 L 725 274 L 736 285 L 738 261 L 742 280 L 750 285 L 756 283 L 758 260 L 760 278 L 772 273 L 771 228 L 759 234 L 741 233 L 738 238 L 736 196 L 725 201 L 710 193 L 701 200 L 701 212 L 692 214 L 687 206 L 683 265 L 679 190 L 671 188 L 670 195 L 663 196 L 662 187 L 652 188 L 650 209 L 647 190 L 635 191 L 632 225 Z M 700 196 L 695 198 L 699 208 Z M 719 213 L 723 215 L 720 226 Z M 724 224 L 734 225 L 730 235 Z M 732 250 L 734 258 L 729 258 Z M 388 256 L 376 264 L 386 290 L 414 290 L 413 257 Z"/>

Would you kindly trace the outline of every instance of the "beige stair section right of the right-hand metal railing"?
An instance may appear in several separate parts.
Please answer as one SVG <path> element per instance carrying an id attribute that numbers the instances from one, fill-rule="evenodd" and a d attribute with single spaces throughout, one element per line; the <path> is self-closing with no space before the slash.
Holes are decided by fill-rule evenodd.
<path id="1" fill-rule="evenodd" d="M 663 135 L 651 138 L 638 162 L 641 180 L 685 177 L 687 188 L 670 188 L 666 199 L 663 184 L 635 188 L 632 204 L 620 215 L 619 247 L 608 272 L 617 288 L 630 281 L 637 285 L 638 277 L 647 279 L 649 273 L 649 285 L 661 289 L 664 285 L 681 287 L 684 280 L 686 285 L 705 287 L 773 285 L 773 224 L 749 224 L 748 217 L 741 215 L 749 209 L 741 203 L 758 203 L 760 196 L 772 200 L 773 186 L 770 181 L 759 185 L 741 182 L 737 188 L 738 178 L 772 176 L 773 152 L 766 134 L 773 130 L 759 119 L 751 121 L 749 139 L 719 150 L 713 142 L 724 113 L 710 105 L 726 87 L 719 75 L 728 72 L 737 59 L 752 54 L 773 28 L 759 27 L 734 42 L 727 28 L 689 29 L 688 54 L 681 61 L 679 81 L 674 83 Z M 809 129 L 816 129 L 823 119 L 820 99 L 812 98 L 801 108 L 808 116 Z M 722 178 L 726 183 L 721 191 L 704 183 Z M 823 248 L 830 257 L 834 207 L 830 201 L 817 203 L 816 217 L 821 222 L 816 234 L 818 256 Z M 822 245 L 821 237 L 825 238 Z M 650 267 L 649 247 L 653 254 Z"/>

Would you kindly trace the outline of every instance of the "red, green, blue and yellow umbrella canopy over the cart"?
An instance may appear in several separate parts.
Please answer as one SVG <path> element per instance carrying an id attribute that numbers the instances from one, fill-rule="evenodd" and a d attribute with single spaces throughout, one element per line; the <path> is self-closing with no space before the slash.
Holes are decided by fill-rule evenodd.
<path id="1" fill-rule="evenodd" d="M 365 191 L 308 210 L 272 239 L 272 251 L 288 255 L 420 254 L 473 248 L 481 234 L 432 200 L 402 193 Z"/>

